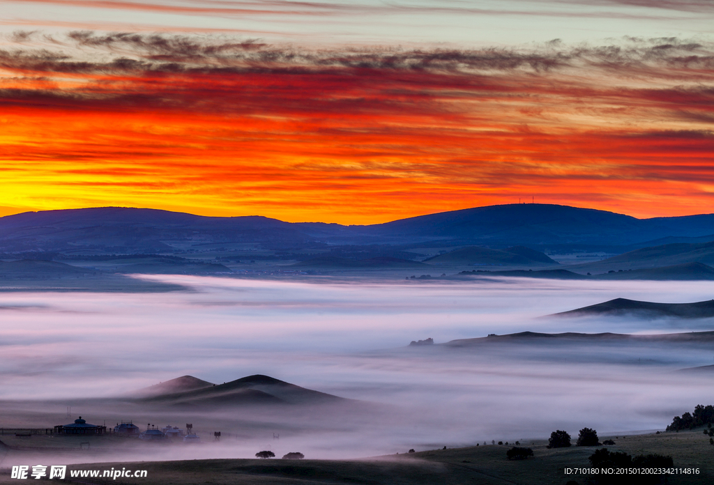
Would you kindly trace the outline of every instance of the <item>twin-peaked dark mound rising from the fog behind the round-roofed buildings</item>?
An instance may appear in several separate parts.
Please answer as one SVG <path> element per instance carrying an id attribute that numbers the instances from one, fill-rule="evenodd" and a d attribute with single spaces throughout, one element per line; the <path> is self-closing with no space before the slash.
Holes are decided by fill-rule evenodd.
<path id="1" fill-rule="evenodd" d="M 178 379 L 184 379 L 185 377 L 190 376 L 179 377 Z M 174 379 L 174 381 L 178 379 Z M 189 382 L 189 384 L 192 383 L 193 381 Z M 180 388 L 181 385 L 178 385 L 178 388 Z M 167 390 L 168 392 L 154 394 L 144 399 L 144 401 L 154 402 L 156 404 L 188 405 L 196 407 L 288 404 L 315 405 L 336 404 L 348 401 L 348 399 L 305 389 L 295 384 L 290 384 L 261 374 L 243 377 L 242 379 L 236 379 L 235 381 L 226 382 L 225 384 L 201 385 L 201 387 L 196 389 Z"/>

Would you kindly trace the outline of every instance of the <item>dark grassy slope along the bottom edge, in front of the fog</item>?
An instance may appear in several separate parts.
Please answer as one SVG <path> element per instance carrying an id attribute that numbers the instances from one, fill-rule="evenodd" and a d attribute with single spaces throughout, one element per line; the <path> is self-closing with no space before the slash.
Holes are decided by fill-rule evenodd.
<path id="1" fill-rule="evenodd" d="M 670 484 L 714 483 L 714 446 L 701 429 L 692 432 L 639 436 L 600 436 L 611 438 L 610 451 L 673 456 L 675 467 L 698 468 L 698 475 L 670 476 Z M 146 478 L 81 479 L 84 484 L 142 485 L 223 485 L 223 484 L 562 484 L 585 477 L 565 475 L 565 468 L 588 467 L 588 456 L 598 447 L 547 449 L 546 441 L 521 444 L 533 449 L 527 460 L 508 461 L 511 446 L 471 446 L 468 448 L 420 451 L 411 454 L 380 456 L 359 460 L 213 459 L 161 462 L 106 463 L 72 465 L 69 469 L 145 469 Z M 5 470 L 6 471 L 6 470 Z M 68 476 L 69 478 L 69 476 Z M 69 481 L 69 480 L 67 480 Z M 80 481 L 78 481 L 80 482 Z M 0 474 L 0 484 L 23 483 Z"/>

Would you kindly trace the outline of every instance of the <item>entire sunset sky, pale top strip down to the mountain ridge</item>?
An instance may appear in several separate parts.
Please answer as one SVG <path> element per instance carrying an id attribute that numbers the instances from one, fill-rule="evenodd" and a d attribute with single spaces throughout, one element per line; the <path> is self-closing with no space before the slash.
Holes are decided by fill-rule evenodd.
<path id="1" fill-rule="evenodd" d="M 711 0 L 0 0 L 0 215 L 714 202 Z"/>

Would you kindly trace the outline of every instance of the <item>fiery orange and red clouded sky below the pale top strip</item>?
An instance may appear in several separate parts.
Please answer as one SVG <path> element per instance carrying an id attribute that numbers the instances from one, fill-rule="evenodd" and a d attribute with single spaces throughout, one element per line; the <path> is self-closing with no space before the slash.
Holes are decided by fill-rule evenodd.
<path id="1" fill-rule="evenodd" d="M 18 43 L 0 51 L 0 215 L 121 205 L 363 224 L 531 196 L 709 213 L 713 51 Z"/>

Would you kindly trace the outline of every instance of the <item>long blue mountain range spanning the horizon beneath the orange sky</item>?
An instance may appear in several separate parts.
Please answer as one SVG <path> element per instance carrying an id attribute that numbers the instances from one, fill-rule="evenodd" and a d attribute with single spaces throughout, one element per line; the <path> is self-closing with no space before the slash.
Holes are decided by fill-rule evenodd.
<path id="1" fill-rule="evenodd" d="M 714 234 L 714 215 L 636 219 L 566 205 L 510 204 L 423 215 L 376 225 L 285 223 L 261 216 L 216 218 L 136 208 L 89 208 L 0 218 L 0 252 L 162 253 L 252 243 L 326 245 L 643 245 Z M 525 249 L 525 248 L 524 248 Z M 515 250 L 513 250 L 515 251 Z M 512 252 L 513 252 L 512 251 Z M 531 258 L 525 252 L 515 254 Z M 704 261 L 703 261 L 704 262 Z"/>

